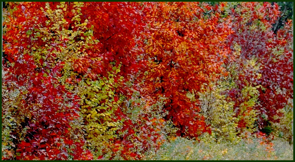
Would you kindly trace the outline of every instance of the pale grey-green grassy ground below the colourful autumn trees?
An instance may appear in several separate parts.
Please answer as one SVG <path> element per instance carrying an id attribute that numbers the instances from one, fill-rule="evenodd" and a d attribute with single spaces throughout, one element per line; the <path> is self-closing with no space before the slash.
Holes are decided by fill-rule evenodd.
<path id="1" fill-rule="evenodd" d="M 260 139 L 238 144 L 227 141 L 198 143 L 179 137 L 164 143 L 158 151 L 146 153 L 144 160 L 293 160 L 293 145 L 282 140 L 272 143 L 260 144 Z"/>

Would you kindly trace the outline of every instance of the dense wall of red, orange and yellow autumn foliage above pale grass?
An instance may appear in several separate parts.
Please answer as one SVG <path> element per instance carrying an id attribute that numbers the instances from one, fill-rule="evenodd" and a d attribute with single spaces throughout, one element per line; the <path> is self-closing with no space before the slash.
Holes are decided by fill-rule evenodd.
<path id="1" fill-rule="evenodd" d="M 293 22 L 273 30 L 276 3 L 9 2 L 3 14 L 2 160 L 139 160 L 175 136 L 290 134 Z"/>

